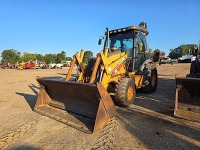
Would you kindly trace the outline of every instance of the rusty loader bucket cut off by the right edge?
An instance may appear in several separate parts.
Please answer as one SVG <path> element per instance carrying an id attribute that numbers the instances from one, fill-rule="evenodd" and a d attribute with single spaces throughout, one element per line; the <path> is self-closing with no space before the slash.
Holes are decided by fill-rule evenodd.
<path id="1" fill-rule="evenodd" d="M 200 79 L 176 78 L 174 115 L 200 122 Z"/>

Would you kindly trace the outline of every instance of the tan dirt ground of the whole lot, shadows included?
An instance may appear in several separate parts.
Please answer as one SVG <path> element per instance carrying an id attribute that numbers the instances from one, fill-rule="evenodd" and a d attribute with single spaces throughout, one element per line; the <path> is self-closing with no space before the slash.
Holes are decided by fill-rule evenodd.
<path id="1" fill-rule="evenodd" d="M 0 149 L 200 149 L 200 124 L 173 117 L 175 75 L 190 64 L 158 65 L 158 88 L 137 93 L 134 104 L 117 107 L 98 133 L 86 134 L 33 111 L 36 76 L 64 77 L 67 68 L 0 70 Z"/>

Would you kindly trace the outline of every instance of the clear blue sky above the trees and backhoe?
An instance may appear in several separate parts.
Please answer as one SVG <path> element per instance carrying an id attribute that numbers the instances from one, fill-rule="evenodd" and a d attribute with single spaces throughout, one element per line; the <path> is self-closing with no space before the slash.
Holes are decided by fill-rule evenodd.
<path id="1" fill-rule="evenodd" d="M 0 54 L 6 49 L 38 54 L 81 49 L 96 55 L 106 27 L 148 26 L 148 45 L 168 55 L 200 40 L 200 0 L 0 0 Z"/>

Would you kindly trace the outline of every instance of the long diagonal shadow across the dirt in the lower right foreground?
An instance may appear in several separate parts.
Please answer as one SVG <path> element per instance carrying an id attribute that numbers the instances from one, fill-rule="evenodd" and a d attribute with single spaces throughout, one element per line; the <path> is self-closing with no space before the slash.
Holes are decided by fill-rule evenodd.
<path id="1" fill-rule="evenodd" d="M 184 120 L 162 118 L 131 107 L 118 108 L 116 118 L 125 130 L 139 139 L 148 149 L 200 148 L 200 129 L 185 124 Z"/>

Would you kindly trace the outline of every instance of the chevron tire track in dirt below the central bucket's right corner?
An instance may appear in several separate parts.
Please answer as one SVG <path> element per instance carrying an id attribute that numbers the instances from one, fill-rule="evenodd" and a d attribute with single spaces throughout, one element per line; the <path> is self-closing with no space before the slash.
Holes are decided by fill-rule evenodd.
<path id="1" fill-rule="evenodd" d="M 95 138 L 95 143 L 91 149 L 114 149 L 116 147 L 115 132 L 118 128 L 119 122 L 115 117 L 113 117 L 111 121 L 100 131 L 99 135 Z"/>

